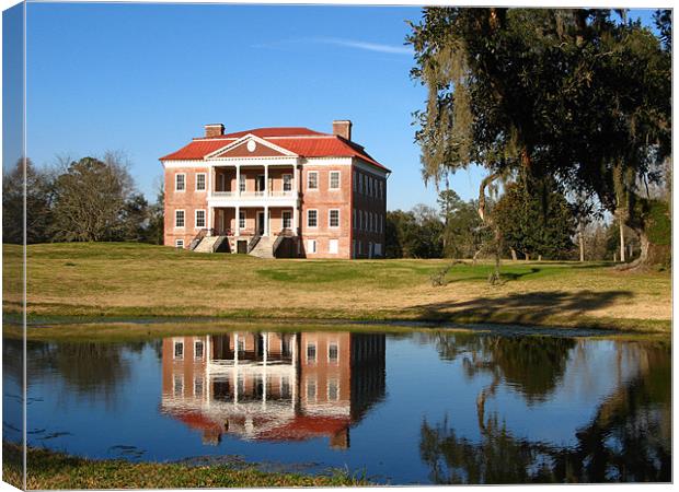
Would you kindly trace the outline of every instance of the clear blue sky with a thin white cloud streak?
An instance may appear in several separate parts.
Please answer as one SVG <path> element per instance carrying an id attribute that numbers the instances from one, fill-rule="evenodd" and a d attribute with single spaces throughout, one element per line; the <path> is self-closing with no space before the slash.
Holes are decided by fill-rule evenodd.
<path id="1" fill-rule="evenodd" d="M 354 121 L 354 140 L 393 171 L 388 208 L 434 206 L 414 143 L 425 98 L 410 79 L 407 20 L 421 8 L 30 3 L 27 145 L 57 154 L 122 150 L 154 199 L 158 157 L 223 122 L 238 131 Z M 635 12 L 636 14 L 637 12 Z M 644 13 L 649 19 L 651 13 Z M 473 198 L 481 172 L 451 187 Z"/>

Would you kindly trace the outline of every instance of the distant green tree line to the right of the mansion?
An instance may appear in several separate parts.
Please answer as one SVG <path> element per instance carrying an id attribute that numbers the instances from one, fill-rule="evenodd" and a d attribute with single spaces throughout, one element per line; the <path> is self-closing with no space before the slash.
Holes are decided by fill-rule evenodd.
<path id="1" fill-rule="evenodd" d="M 619 221 L 591 208 L 583 213 L 582 204 L 566 200 L 563 192 L 554 191 L 557 188 L 550 183 L 543 196 L 534 185 L 508 183 L 500 197 L 488 200 L 486 208 L 492 210 L 502 236 L 502 256 L 515 260 L 619 261 Z M 492 256 L 486 245 L 493 241 L 493 231 L 481 220 L 477 200 L 464 201 L 447 189 L 439 194 L 438 206 L 435 209 L 421 203 L 408 211 L 387 212 L 388 258 Z M 623 229 L 623 257 L 630 261 L 638 257 L 641 242 L 632 229 Z"/>

